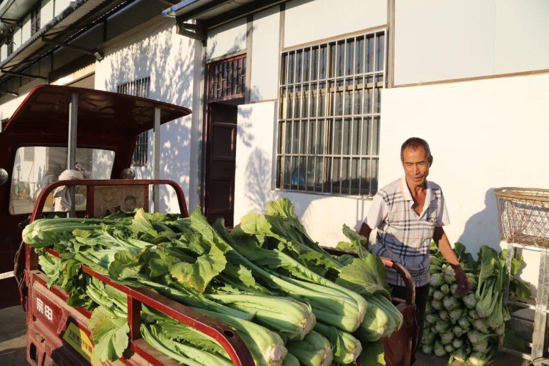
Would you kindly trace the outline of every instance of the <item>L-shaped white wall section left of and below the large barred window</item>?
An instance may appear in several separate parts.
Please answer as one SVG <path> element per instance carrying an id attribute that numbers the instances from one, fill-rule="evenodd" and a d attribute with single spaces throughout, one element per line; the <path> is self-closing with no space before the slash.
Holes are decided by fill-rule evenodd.
<path id="1" fill-rule="evenodd" d="M 335 246 L 345 238 L 341 233 L 344 223 L 352 228 L 360 227 L 371 201 L 274 190 L 272 157 L 276 110 L 276 102 L 238 108 L 234 222 L 250 212 L 265 212 L 268 202 L 285 197 L 292 200 L 313 239 L 322 245 Z"/>

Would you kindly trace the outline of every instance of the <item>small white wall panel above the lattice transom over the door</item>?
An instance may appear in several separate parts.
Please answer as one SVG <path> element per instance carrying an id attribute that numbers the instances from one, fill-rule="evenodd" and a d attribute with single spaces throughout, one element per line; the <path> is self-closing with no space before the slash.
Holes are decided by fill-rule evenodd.
<path id="1" fill-rule="evenodd" d="M 206 59 L 246 49 L 246 18 L 229 22 L 208 32 Z"/>

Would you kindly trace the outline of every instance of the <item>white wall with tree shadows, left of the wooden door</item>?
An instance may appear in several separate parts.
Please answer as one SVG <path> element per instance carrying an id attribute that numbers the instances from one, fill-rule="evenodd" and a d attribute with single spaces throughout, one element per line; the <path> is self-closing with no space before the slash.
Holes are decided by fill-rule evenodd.
<path id="1" fill-rule="evenodd" d="M 105 58 L 96 63 L 95 87 L 116 91 L 120 83 L 149 76 L 150 99 L 192 108 L 195 41 L 177 35 L 172 20 L 159 18 L 143 24 L 141 31 L 124 33 L 103 48 Z M 191 130 L 191 116 L 161 127 L 160 178 L 179 183 L 187 194 L 187 204 L 189 194 L 197 192 L 196 187 L 189 187 L 189 175 L 197 174 L 198 169 L 196 164 L 191 166 L 189 156 L 191 140 L 199 136 Z M 136 178 L 152 178 L 152 139 L 153 134 L 149 132 L 148 164 L 134 167 Z M 189 205 L 189 209 L 192 208 Z M 163 188 L 160 210 L 176 212 L 177 209 L 175 192 Z"/>

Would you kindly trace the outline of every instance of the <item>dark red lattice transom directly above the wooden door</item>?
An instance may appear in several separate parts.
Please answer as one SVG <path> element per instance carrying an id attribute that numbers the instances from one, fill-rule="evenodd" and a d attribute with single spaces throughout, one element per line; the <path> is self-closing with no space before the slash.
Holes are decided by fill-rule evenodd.
<path id="1" fill-rule="evenodd" d="M 245 54 L 208 64 L 208 102 L 243 98 L 245 80 Z"/>

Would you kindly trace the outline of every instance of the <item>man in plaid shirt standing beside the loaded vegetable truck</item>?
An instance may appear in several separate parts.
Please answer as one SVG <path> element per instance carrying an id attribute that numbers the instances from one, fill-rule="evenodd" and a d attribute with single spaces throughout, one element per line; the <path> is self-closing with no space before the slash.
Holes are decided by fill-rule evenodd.
<path id="1" fill-rule="evenodd" d="M 400 160 L 404 176 L 378 190 L 360 233 L 369 238 L 372 229 L 377 228 L 372 253 L 401 263 L 412 275 L 421 339 L 429 292 L 429 244 L 432 240 L 453 268 L 458 284 L 456 294 L 467 294 L 470 285 L 442 228 L 450 223 L 442 190 L 427 181 L 433 164 L 429 145 L 421 138 L 407 139 L 400 149 Z M 387 281 L 393 286 L 393 296 L 405 297 L 404 281 L 395 271 L 388 271 Z"/>

